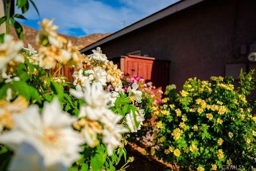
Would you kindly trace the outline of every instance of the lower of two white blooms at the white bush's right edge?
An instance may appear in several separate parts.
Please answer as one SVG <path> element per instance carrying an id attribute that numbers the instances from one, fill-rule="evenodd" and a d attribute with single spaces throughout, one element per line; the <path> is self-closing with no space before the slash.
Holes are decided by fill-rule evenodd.
<path id="1" fill-rule="evenodd" d="M 132 133 L 134 133 L 134 132 L 137 133 L 137 131 L 141 129 L 141 126 L 143 125 L 142 122 L 145 120 L 145 118 L 144 118 L 145 114 L 143 114 L 143 111 L 144 111 L 143 109 L 140 109 L 139 112 L 135 111 L 136 120 L 139 123 L 138 128 L 135 124 L 132 110 L 130 113 L 127 113 L 127 115 L 125 116 L 126 123 L 129 126 L 129 128 L 131 129 Z"/>

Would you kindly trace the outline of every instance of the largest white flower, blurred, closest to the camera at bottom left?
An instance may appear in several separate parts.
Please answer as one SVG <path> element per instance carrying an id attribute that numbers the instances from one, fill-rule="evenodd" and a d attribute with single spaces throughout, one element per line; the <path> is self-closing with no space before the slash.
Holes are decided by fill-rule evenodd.
<path id="1" fill-rule="evenodd" d="M 10 170 L 68 170 L 79 158 L 82 137 L 70 126 L 76 118 L 61 110 L 58 99 L 45 102 L 42 115 L 31 105 L 13 119 L 16 127 L 0 136 L 15 154 Z"/>

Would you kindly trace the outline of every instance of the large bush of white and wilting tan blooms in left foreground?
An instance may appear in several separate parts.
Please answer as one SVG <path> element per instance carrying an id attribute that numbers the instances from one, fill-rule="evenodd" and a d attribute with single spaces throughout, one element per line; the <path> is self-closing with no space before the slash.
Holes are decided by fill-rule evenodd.
<path id="1" fill-rule="evenodd" d="M 53 20 L 41 29 L 38 52 L 7 34 L 0 44 L 0 170 L 125 170 L 126 134 L 143 120 L 137 84 L 124 93 L 99 47 L 86 56 Z M 63 65 L 76 69 L 74 83 L 57 75 Z"/>

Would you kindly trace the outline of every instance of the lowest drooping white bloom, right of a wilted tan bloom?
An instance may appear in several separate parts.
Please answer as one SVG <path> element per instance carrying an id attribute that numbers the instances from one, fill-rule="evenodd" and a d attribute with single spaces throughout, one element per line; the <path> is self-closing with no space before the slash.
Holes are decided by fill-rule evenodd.
<path id="1" fill-rule="evenodd" d="M 110 114 L 111 112 L 111 110 L 108 110 L 106 118 L 102 120 L 105 123 L 105 126 L 103 127 L 102 140 L 107 146 L 107 153 L 109 156 L 111 156 L 113 150 L 118 145 L 121 145 L 122 133 L 126 133 L 128 131 L 122 124 L 117 124 L 122 119 L 122 116 L 115 115 L 113 112 Z"/>

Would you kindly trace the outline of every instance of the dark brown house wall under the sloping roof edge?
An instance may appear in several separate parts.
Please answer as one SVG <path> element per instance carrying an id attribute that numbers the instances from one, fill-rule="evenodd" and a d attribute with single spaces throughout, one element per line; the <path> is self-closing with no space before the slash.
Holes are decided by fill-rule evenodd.
<path id="1" fill-rule="evenodd" d="M 190 77 L 225 76 L 227 63 L 249 65 L 239 53 L 241 44 L 256 41 L 255 6 L 252 0 L 206 0 L 100 47 L 109 58 L 140 50 L 171 60 L 170 84 L 181 88 Z"/>

